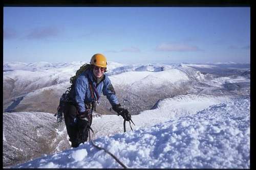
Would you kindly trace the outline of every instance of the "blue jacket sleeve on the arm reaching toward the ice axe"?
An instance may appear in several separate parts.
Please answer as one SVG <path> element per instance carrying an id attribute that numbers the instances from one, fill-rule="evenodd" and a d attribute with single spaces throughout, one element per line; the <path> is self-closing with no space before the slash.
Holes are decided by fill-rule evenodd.
<path id="1" fill-rule="evenodd" d="M 102 93 L 112 106 L 119 104 L 114 87 L 108 77 L 105 77 Z"/>

